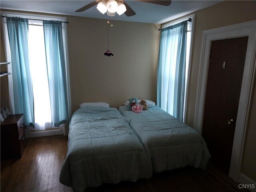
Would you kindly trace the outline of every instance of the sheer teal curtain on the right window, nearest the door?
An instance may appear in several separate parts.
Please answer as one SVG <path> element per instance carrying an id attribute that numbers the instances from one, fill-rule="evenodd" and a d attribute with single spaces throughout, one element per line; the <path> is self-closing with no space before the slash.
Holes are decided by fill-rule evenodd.
<path id="1" fill-rule="evenodd" d="M 157 105 L 183 121 L 188 21 L 161 30 Z"/>

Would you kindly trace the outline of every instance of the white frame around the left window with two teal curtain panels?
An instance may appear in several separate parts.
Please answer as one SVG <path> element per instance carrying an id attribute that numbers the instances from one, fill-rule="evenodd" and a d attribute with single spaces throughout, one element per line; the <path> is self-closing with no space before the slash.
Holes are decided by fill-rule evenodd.
<path id="1" fill-rule="evenodd" d="M 66 17 L 60 17 L 60 16 L 49 16 L 49 15 L 40 15 L 40 14 L 28 14 L 28 13 L 18 13 L 18 12 L 1 12 L 2 16 L 11 16 L 11 17 L 22 17 L 22 18 L 28 18 L 28 19 L 38 19 L 38 20 L 58 20 L 62 22 L 66 22 Z M 2 17 L 2 31 L 3 31 L 3 39 L 4 39 L 4 50 L 5 50 L 5 56 L 6 56 L 6 62 L 11 62 L 11 56 L 10 56 L 10 45 L 8 40 L 8 32 L 7 32 L 7 23 L 6 18 Z M 65 57 L 65 67 L 66 67 L 66 85 L 67 85 L 67 97 L 68 97 L 68 121 L 71 117 L 71 93 L 70 93 L 70 76 L 69 76 L 69 58 L 68 58 L 68 36 L 67 36 L 67 24 L 62 23 L 62 34 L 63 34 L 63 44 L 64 44 L 64 57 Z M 11 65 L 8 65 L 8 71 L 12 72 Z M 8 76 L 9 79 L 12 78 L 12 75 Z M 11 89 L 10 89 L 11 88 Z M 9 85 L 9 98 L 13 98 L 13 85 Z M 10 110 L 12 113 L 14 113 L 14 104 L 11 103 L 13 99 L 10 99 Z"/>

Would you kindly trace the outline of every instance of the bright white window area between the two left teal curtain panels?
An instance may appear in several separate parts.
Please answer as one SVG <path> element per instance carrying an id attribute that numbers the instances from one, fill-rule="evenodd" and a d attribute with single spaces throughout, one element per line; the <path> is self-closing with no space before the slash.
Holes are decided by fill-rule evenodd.
<path id="1" fill-rule="evenodd" d="M 35 130 L 45 130 L 45 128 L 50 126 L 51 107 L 44 46 L 44 29 L 40 25 L 29 25 L 28 32 L 29 59 L 34 94 Z"/>

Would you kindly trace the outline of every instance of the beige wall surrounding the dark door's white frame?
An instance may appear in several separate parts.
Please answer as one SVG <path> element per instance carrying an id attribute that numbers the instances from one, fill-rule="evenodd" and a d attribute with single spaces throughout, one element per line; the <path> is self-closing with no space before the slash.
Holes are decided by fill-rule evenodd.
<path id="1" fill-rule="evenodd" d="M 202 33 L 204 30 L 256 20 L 256 1 L 225 1 L 196 13 L 194 25 L 194 40 L 192 48 L 192 63 L 188 90 L 187 124 L 193 126 L 196 104 L 196 89 Z M 254 102 L 250 112 L 250 123 L 247 128 L 245 151 L 242 162 L 242 172 L 256 181 L 256 84 L 254 84 Z"/>

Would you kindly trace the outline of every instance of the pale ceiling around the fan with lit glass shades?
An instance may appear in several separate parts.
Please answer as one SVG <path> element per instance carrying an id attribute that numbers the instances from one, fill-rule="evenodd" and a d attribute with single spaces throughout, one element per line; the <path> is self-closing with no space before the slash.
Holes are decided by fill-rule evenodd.
<path id="1" fill-rule="evenodd" d="M 75 10 L 92 2 L 91 0 L 1 0 L 1 9 L 22 10 L 32 12 L 44 12 L 64 14 L 71 16 L 106 19 L 106 14 L 101 14 L 96 6 L 80 13 Z M 113 20 L 145 22 L 162 24 L 170 20 L 188 15 L 192 12 L 218 4 L 218 0 L 172 0 L 170 6 L 161 6 L 151 3 L 126 0 L 126 3 L 136 12 L 136 15 L 127 17 L 125 14 L 116 14 Z"/>

